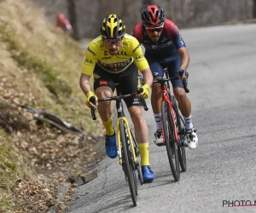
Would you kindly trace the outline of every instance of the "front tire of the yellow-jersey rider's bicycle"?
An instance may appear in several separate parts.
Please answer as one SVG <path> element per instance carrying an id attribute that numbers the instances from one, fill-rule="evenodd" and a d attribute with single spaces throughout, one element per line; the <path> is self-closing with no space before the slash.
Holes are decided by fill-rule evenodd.
<path id="1" fill-rule="evenodd" d="M 135 179 L 134 179 L 134 171 L 131 168 L 130 160 L 129 160 L 129 153 L 128 151 L 128 140 L 125 135 L 125 124 L 123 120 L 119 122 L 119 130 L 120 130 L 120 137 L 121 137 L 121 144 L 123 149 L 123 164 L 125 163 L 125 171 L 126 176 L 129 183 L 129 188 L 131 192 L 131 199 L 134 206 L 137 206 L 137 192 L 135 186 Z"/>

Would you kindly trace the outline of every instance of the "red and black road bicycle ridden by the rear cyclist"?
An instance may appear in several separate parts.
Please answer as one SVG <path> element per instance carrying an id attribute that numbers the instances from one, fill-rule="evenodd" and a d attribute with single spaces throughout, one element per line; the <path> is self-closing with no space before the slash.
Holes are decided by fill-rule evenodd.
<path id="1" fill-rule="evenodd" d="M 154 83 L 160 83 L 162 94 L 161 119 L 163 123 L 162 134 L 163 144 L 169 159 L 172 170 L 172 176 L 175 181 L 180 179 L 180 168 L 187 170 L 185 147 L 187 147 L 187 132 L 184 128 L 184 121 L 178 111 L 177 101 L 174 95 L 171 95 L 170 81 L 176 78 L 169 78 L 168 70 L 165 68 L 166 78 L 158 78 Z M 187 81 L 183 81 L 183 87 L 186 93 L 189 93 Z"/>

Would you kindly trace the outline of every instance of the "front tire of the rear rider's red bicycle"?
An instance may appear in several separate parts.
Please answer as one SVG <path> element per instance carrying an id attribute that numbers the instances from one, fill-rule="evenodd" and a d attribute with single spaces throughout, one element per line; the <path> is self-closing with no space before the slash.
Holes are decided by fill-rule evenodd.
<path id="1" fill-rule="evenodd" d="M 166 141 L 166 151 L 169 159 L 169 164 L 172 170 L 172 176 L 175 181 L 180 179 L 180 169 L 179 169 L 179 158 L 177 155 L 177 142 L 174 138 L 174 124 L 172 120 L 172 115 L 168 103 L 166 101 L 162 102 L 162 121 L 164 130 L 164 139 Z M 173 162 L 173 159 L 175 163 Z"/>

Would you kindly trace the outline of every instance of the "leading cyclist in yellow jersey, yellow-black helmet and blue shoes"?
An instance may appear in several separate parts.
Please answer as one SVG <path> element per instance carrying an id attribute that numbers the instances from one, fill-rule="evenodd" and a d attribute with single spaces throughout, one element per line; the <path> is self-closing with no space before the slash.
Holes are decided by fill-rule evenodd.
<path id="1" fill-rule="evenodd" d="M 90 102 L 90 97 L 106 98 L 113 95 L 115 83 L 119 83 L 120 93 L 130 94 L 137 90 L 138 72 L 143 73 L 143 96 L 148 98 L 153 77 L 148 61 L 137 38 L 125 33 L 125 23 L 116 14 L 109 14 L 100 27 L 101 36 L 90 42 L 85 54 L 80 77 L 80 87 L 86 95 L 85 104 L 96 107 L 106 129 L 106 153 L 109 158 L 116 158 L 117 147 L 113 129 L 112 108 L 110 101 Z M 94 78 L 94 91 L 90 89 L 90 77 Z M 142 102 L 137 97 L 126 98 L 125 104 L 134 124 L 135 136 L 141 154 L 143 181 L 152 182 L 154 173 L 149 164 L 148 126 L 143 118 Z"/>

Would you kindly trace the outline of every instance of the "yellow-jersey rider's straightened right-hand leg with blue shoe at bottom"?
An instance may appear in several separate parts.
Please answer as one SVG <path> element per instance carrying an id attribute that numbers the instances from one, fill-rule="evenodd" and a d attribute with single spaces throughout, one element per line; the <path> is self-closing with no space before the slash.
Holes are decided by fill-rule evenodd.
<path id="1" fill-rule="evenodd" d="M 133 63 L 119 76 L 119 89 L 121 94 L 130 94 L 137 89 L 137 66 Z M 143 181 L 154 180 L 154 173 L 150 169 L 148 149 L 148 125 L 143 118 L 142 102 L 137 97 L 125 98 L 125 104 L 134 124 L 135 137 L 141 154 Z"/>

